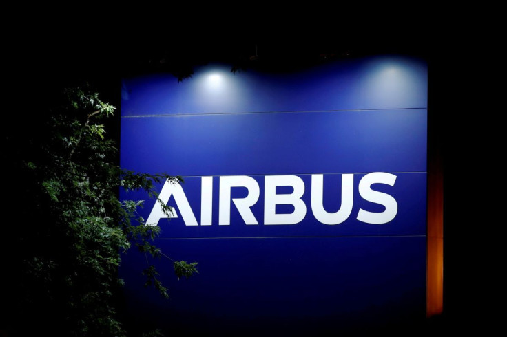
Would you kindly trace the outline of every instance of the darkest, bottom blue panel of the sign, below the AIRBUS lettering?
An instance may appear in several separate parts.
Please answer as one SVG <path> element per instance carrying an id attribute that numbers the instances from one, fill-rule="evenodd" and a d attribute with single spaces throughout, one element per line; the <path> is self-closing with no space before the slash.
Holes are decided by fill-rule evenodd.
<path id="1" fill-rule="evenodd" d="M 132 319 L 189 331 L 273 329 L 297 334 L 406 323 L 424 318 L 426 237 L 169 239 L 174 259 L 199 261 L 200 274 L 177 280 L 161 259 L 171 298 L 145 289 L 144 254 L 123 257 Z M 151 260 L 150 260 L 151 261 Z M 315 325 L 316 324 L 316 325 Z M 170 330 L 172 331 L 172 330 Z M 188 332 L 188 330 L 187 330 Z M 271 332 L 271 334 L 270 334 Z"/>

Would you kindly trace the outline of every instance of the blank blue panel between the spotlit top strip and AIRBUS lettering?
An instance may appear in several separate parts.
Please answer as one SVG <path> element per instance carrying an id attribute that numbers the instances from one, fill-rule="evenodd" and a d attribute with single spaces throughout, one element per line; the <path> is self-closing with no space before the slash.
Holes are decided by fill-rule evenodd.
<path id="1" fill-rule="evenodd" d="M 140 172 L 426 171 L 426 109 L 123 118 L 122 126 L 122 165 Z"/>

